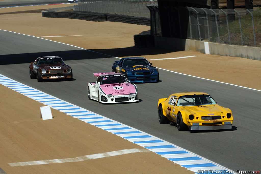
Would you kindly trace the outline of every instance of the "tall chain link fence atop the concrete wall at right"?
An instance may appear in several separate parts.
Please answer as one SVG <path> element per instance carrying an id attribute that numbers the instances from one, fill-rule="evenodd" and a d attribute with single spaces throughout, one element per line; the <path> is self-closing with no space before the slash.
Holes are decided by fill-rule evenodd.
<path id="1" fill-rule="evenodd" d="M 261 10 L 192 7 L 162 7 L 150 8 L 150 10 L 154 14 L 151 17 L 155 21 L 152 23 L 154 36 L 261 46 Z M 156 22 L 159 13 L 164 16 L 161 17 L 161 24 Z"/>

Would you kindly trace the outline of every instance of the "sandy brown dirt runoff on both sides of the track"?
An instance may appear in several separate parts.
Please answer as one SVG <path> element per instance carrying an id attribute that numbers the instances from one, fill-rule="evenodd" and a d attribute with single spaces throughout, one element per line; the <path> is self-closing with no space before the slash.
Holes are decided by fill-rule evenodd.
<path id="1" fill-rule="evenodd" d="M 40 13 L 43 9 L 64 6 L 72 4 L 0 9 L 0 29 L 75 45 L 115 57 L 141 56 L 159 68 L 261 90 L 261 61 L 191 51 L 138 49 L 134 47 L 133 35 L 149 30 L 149 26 L 45 18 Z M 151 60 L 185 56 L 196 57 Z M 43 104 L 3 85 L 0 85 L 0 94 L 0 167 L 8 174 L 194 173 L 117 135 L 57 110 L 52 109 L 54 119 L 43 121 L 39 110 Z M 14 167 L 8 164 L 76 158 L 133 148 L 141 152 L 68 163 Z"/>

